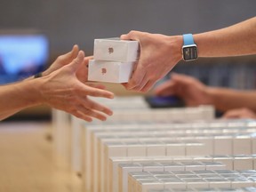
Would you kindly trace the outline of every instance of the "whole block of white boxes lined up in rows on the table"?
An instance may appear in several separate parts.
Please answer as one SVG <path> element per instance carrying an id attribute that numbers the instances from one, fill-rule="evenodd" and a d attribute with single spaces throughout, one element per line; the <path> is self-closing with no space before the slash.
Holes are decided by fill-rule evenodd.
<path id="1" fill-rule="evenodd" d="M 106 122 L 73 118 L 73 150 L 80 154 L 73 156 L 79 158 L 76 166 L 83 165 L 85 191 L 249 191 L 255 186 L 255 172 L 244 171 L 256 168 L 254 120 L 216 120 L 212 107 L 153 110 L 136 97 L 103 102 L 114 108 Z"/>

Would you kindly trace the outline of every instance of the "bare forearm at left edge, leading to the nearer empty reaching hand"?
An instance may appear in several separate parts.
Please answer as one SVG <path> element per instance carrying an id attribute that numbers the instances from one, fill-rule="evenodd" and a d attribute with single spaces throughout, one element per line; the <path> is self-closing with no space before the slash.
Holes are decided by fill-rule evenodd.
<path id="1" fill-rule="evenodd" d="M 36 82 L 35 79 L 1 86 L 0 120 L 12 116 L 23 108 L 40 104 L 40 94 L 36 88 Z"/>

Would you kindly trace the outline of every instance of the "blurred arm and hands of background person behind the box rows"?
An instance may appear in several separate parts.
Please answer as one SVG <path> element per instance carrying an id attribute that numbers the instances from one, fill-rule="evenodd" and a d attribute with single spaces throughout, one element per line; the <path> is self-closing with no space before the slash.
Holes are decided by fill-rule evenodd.
<path id="1" fill-rule="evenodd" d="M 256 91 L 207 86 L 193 76 L 172 73 L 154 92 L 157 96 L 177 96 L 189 107 L 212 105 L 225 118 L 256 119 Z"/>

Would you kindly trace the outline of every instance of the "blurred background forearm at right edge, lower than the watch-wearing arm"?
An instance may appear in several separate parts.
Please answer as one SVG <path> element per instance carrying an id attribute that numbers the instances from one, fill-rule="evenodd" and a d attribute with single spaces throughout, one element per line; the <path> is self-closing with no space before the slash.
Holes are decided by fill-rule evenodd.
<path id="1" fill-rule="evenodd" d="M 211 100 L 210 104 L 220 111 L 233 108 L 250 108 L 256 112 L 256 92 L 254 91 L 209 87 L 207 92 Z"/>

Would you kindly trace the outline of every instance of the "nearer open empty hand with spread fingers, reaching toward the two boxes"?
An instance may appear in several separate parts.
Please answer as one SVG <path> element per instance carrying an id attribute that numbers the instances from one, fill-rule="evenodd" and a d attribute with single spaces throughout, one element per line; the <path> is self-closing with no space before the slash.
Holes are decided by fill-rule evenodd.
<path id="1" fill-rule="evenodd" d="M 80 51 L 76 59 L 69 64 L 62 65 L 48 76 L 35 79 L 40 81 L 38 89 L 41 92 L 42 103 L 64 110 L 88 122 L 92 121 L 92 117 L 104 121 L 106 116 L 102 113 L 111 116 L 112 111 L 100 103 L 90 100 L 88 96 L 112 99 L 114 94 L 83 84 L 78 79 L 77 72 L 79 68 L 82 68 L 84 60 L 84 52 Z"/>

